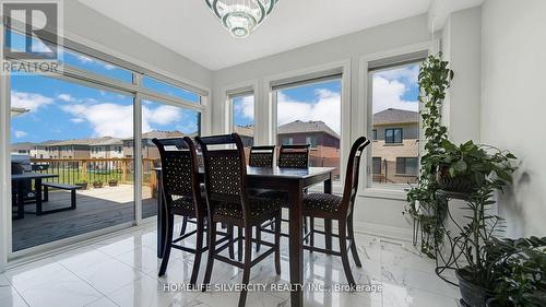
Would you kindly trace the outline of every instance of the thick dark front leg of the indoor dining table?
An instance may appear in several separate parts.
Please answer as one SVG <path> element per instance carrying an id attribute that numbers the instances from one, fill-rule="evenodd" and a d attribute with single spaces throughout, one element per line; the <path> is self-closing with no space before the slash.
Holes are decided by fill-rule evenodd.
<path id="1" fill-rule="evenodd" d="M 301 235 L 301 185 L 294 185 L 289 190 L 290 223 L 289 223 L 289 252 L 290 252 L 290 306 L 304 306 L 304 252 Z"/>

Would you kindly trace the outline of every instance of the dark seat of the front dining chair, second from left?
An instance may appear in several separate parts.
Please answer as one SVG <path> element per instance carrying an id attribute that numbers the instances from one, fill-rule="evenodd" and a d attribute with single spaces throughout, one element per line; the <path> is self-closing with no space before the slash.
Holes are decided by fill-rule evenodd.
<path id="1" fill-rule="evenodd" d="M 250 197 L 249 198 L 250 202 L 250 217 L 251 219 L 259 219 L 261 216 L 270 216 L 274 213 L 276 213 L 282 204 L 283 201 L 281 199 L 269 199 L 269 198 L 257 198 L 257 197 Z M 225 215 L 234 219 L 242 219 L 242 209 L 241 205 L 238 203 L 232 203 L 232 202 L 218 202 L 214 206 L 215 215 Z"/>

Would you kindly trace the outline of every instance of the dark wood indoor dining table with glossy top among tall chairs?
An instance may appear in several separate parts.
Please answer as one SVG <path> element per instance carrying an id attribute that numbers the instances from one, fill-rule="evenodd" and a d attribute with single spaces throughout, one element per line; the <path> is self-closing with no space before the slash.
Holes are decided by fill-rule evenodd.
<path id="1" fill-rule="evenodd" d="M 290 305 L 304 306 L 304 249 L 302 249 L 302 197 L 304 190 L 322 184 L 325 193 L 332 193 L 334 167 L 309 167 L 305 169 L 280 167 L 247 167 L 249 188 L 284 191 L 289 202 L 289 259 L 290 259 Z M 157 172 L 157 257 L 163 256 L 163 240 L 166 236 L 166 208 L 162 196 L 161 168 Z M 203 174 L 202 169 L 200 173 Z M 204 176 L 201 176 L 204 177 Z M 327 248 L 331 248 L 332 221 L 325 222 Z"/>

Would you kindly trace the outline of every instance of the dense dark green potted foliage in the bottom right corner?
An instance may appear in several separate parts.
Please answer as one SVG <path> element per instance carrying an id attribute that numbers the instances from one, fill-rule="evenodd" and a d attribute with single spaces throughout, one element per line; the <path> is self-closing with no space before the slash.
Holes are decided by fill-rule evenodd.
<path id="1" fill-rule="evenodd" d="M 486 248 L 496 284 L 488 307 L 546 306 L 546 237 L 492 238 Z"/>

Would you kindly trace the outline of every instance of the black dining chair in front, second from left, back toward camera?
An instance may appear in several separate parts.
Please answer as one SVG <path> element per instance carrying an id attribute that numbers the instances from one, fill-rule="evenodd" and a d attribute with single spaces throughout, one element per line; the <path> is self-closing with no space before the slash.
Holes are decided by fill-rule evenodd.
<path id="1" fill-rule="evenodd" d="M 209 259 L 204 285 L 211 282 L 214 260 L 242 269 L 242 284 L 248 285 L 250 268 L 274 252 L 275 270 L 277 274 L 281 274 L 280 225 L 282 200 L 249 196 L 245 150 L 238 134 L 198 137 L 195 141 L 201 145 L 203 152 L 210 225 Z M 232 149 L 228 146 L 232 146 Z M 274 220 L 277 226 L 274 243 L 260 241 L 261 245 L 268 246 L 270 249 L 252 260 L 252 241 L 257 241 L 252 238 L 252 227 L 258 227 L 269 220 Z M 216 248 L 217 223 L 245 229 L 245 235 L 236 238 L 237 241 L 245 241 L 244 262 L 221 255 L 234 241 L 230 240 L 226 245 Z M 204 290 L 205 287 L 203 287 Z M 246 299 L 247 290 L 245 287 L 240 293 L 238 306 L 245 306 Z"/>

